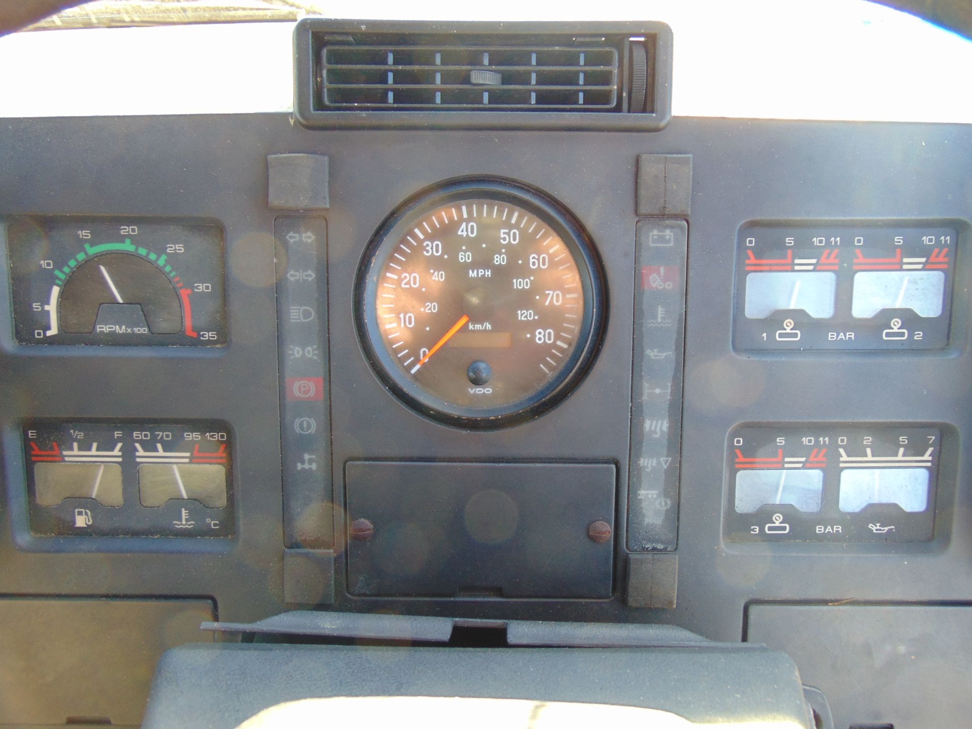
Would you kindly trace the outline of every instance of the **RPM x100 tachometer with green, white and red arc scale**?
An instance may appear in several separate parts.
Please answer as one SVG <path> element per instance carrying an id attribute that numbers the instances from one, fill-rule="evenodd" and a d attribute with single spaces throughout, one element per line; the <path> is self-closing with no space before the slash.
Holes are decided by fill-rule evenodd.
<path id="1" fill-rule="evenodd" d="M 223 230 L 78 217 L 7 224 L 21 344 L 226 344 Z"/>

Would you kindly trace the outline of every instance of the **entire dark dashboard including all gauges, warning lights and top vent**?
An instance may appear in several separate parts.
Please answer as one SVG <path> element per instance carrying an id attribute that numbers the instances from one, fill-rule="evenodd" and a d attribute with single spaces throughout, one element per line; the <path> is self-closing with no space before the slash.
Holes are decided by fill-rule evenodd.
<path id="1" fill-rule="evenodd" d="M 252 693 L 177 648 L 146 726 L 235 726 L 303 690 L 250 642 L 538 621 L 704 637 L 719 680 L 765 644 L 832 726 L 961 723 L 972 132 L 672 117 L 672 42 L 308 18 L 293 116 L 5 120 L 0 642 L 130 693 L 23 698 L 57 675 L 24 659 L 0 724 L 137 725 L 162 651 L 215 641 Z"/>

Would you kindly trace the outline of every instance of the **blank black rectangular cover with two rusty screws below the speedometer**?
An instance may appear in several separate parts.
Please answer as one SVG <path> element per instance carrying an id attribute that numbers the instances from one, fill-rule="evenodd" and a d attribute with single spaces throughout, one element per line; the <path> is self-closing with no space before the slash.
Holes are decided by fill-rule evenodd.
<path id="1" fill-rule="evenodd" d="M 351 462 L 348 591 L 609 598 L 614 493 L 610 464 Z"/>

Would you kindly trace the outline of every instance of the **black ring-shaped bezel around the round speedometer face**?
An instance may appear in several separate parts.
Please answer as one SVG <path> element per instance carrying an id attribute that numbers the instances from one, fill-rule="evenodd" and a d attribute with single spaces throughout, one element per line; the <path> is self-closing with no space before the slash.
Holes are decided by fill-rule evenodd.
<path id="1" fill-rule="evenodd" d="M 485 200 L 500 205 L 501 209 L 503 205 L 508 205 L 511 209 L 525 211 L 542 225 L 548 226 L 566 245 L 576 264 L 576 283 L 583 299 L 578 307 L 578 324 L 576 336 L 571 342 L 572 348 L 569 351 L 565 348 L 563 361 L 557 362 L 559 366 L 556 371 L 519 399 L 487 402 L 484 405 L 470 405 L 468 402 L 440 397 L 409 376 L 383 340 L 377 304 L 383 283 L 382 271 L 396 254 L 401 241 L 415 228 L 416 222 L 442 206 L 461 206 L 463 201 L 472 200 Z M 449 245 L 445 241 L 443 249 L 448 251 Z M 359 264 L 355 284 L 355 324 L 364 357 L 375 375 L 393 396 L 412 410 L 437 423 L 463 429 L 497 429 L 523 423 L 537 418 L 570 395 L 598 354 L 607 316 L 604 269 L 584 226 L 573 213 L 547 193 L 502 177 L 453 178 L 418 191 L 406 199 L 371 236 Z M 512 349 L 510 352 L 517 353 L 518 350 Z M 549 366 L 553 368 L 553 365 Z"/>

